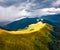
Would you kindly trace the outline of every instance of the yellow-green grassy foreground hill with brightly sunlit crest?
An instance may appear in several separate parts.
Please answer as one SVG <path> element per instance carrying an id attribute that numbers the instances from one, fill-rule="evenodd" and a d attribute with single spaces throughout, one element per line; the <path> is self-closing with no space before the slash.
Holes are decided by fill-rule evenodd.
<path id="1" fill-rule="evenodd" d="M 59 50 L 51 32 L 53 27 L 43 22 L 17 31 L 0 29 L 0 50 Z"/>

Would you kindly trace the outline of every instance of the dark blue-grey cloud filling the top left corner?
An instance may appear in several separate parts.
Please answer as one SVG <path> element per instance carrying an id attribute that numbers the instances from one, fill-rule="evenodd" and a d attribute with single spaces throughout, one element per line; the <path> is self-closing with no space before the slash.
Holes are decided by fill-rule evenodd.
<path id="1" fill-rule="evenodd" d="M 12 5 L 18 5 L 22 2 L 25 2 L 26 0 L 2 0 L 0 1 L 0 6 L 8 7 Z"/>

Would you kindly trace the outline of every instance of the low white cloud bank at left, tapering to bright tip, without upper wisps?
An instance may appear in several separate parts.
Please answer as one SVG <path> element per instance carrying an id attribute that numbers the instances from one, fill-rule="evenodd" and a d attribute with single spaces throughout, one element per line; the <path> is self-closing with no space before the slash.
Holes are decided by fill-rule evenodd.
<path id="1" fill-rule="evenodd" d="M 14 6 L 7 8 L 0 7 L 0 21 L 12 21 L 22 16 L 28 16 L 29 14 L 25 9 L 19 10 Z"/>

